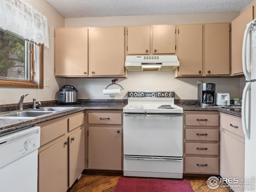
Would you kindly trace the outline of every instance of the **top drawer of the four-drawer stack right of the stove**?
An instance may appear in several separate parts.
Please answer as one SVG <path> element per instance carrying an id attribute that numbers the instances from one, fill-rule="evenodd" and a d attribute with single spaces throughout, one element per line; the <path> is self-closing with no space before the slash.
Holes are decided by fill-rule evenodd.
<path id="1" fill-rule="evenodd" d="M 186 114 L 185 125 L 190 126 L 219 126 L 219 115 Z"/>

